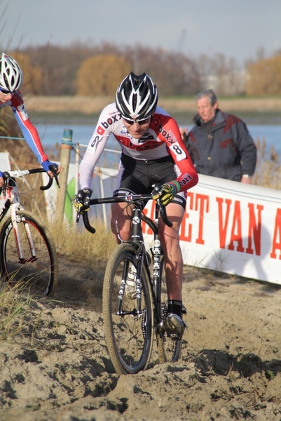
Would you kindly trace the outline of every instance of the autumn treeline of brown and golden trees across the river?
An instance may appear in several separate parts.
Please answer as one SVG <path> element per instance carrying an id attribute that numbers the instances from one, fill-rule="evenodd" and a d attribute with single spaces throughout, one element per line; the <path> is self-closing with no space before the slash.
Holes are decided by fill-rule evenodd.
<path id="1" fill-rule="evenodd" d="M 35 95 L 114 95 L 129 72 L 148 73 L 161 96 L 196 95 L 213 88 L 217 95 L 281 95 L 281 51 L 239 69 L 222 54 L 189 58 L 161 48 L 36 46 L 9 51 L 24 72 L 24 93 Z"/>

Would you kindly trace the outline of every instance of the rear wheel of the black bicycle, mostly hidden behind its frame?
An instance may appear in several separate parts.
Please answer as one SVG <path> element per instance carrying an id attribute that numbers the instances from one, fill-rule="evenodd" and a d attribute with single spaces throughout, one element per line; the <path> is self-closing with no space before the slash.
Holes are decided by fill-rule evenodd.
<path id="1" fill-rule="evenodd" d="M 167 286 L 165 279 L 164 257 L 160 263 L 160 280 L 161 280 L 161 318 L 167 316 Z M 167 361 L 177 362 L 181 357 L 181 340 L 172 340 L 167 333 L 160 332 L 156 329 L 156 342 L 158 347 L 158 358 L 160 363 Z"/>

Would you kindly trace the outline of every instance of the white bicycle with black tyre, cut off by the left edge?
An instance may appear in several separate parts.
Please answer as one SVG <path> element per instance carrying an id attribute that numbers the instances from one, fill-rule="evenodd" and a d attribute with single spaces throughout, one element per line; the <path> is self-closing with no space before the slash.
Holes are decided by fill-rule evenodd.
<path id="1" fill-rule="evenodd" d="M 50 166 L 55 174 L 56 166 Z M 43 168 L 23 171 L 6 171 L 2 193 L 6 198 L 0 213 L 0 222 L 8 211 L 10 215 L 4 221 L 0 231 L 1 279 L 10 283 L 29 282 L 34 294 L 55 295 L 58 279 L 58 261 L 55 243 L 46 224 L 32 212 L 25 210 L 20 203 L 20 196 L 15 178 L 25 175 L 44 173 Z M 23 179 L 24 180 L 24 179 Z M 53 178 L 41 190 L 50 188 Z"/>

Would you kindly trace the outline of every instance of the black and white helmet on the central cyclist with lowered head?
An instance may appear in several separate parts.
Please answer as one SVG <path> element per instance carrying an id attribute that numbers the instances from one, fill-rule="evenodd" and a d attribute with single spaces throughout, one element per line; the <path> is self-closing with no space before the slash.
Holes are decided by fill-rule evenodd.
<path id="1" fill-rule="evenodd" d="M 158 91 L 151 77 L 130 73 L 117 88 L 116 107 L 124 119 L 148 119 L 155 111 Z"/>

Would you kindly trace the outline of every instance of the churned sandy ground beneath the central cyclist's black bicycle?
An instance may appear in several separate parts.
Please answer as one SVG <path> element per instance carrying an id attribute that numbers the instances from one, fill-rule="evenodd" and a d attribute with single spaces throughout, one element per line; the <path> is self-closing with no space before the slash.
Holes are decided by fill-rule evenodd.
<path id="1" fill-rule="evenodd" d="M 281 288 L 185 269 L 178 363 L 114 373 L 103 273 L 60 259 L 55 301 L 34 301 L 25 334 L 0 342 L 1 421 L 281 420 Z M 156 346 L 153 347 L 156 350 Z"/>

